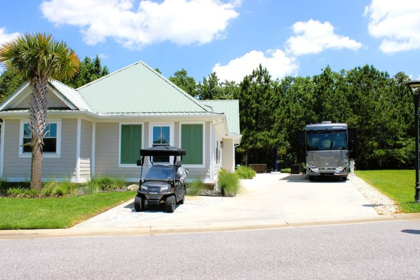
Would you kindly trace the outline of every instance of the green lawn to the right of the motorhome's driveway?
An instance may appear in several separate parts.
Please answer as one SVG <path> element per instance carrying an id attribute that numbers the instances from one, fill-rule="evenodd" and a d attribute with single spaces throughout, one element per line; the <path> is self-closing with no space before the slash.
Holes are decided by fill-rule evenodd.
<path id="1" fill-rule="evenodd" d="M 402 212 L 420 212 L 420 203 L 414 202 L 414 170 L 356 170 L 355 174 L 394 200 Z"/>

